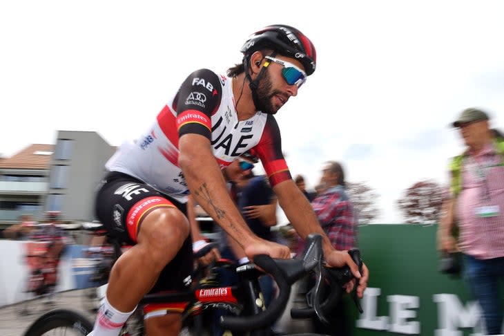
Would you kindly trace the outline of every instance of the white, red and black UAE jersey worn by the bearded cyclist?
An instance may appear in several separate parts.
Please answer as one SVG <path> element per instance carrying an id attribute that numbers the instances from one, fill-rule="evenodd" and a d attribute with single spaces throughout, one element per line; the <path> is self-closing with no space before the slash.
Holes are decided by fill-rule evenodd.
<path id="1" fill-rule="evenodd" d="M 178 165 L 178 140 L 184 133 L 200 133 L 211 140 L 221 169 L 254 148 L 272 185 L 290 178 L 273 115 L 257 112 L 239 122 L 232 83 L 231 78 L 206 69 L 195 71 L 152 126 L 117 149 L 106 169 L 133 176 L 185 203 L 188 188 Z"/>

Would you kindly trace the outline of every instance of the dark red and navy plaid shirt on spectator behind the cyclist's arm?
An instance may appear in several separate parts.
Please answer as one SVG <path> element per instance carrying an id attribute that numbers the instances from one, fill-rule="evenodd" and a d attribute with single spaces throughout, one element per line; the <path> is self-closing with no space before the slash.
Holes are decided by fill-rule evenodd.
<path id="1" fill-rule="evenodd" d="M 357 221 L 353 205 L 341 185 L 327 189 L 311 202 L 318 221 L 336 250 L 357 245 Z"/>

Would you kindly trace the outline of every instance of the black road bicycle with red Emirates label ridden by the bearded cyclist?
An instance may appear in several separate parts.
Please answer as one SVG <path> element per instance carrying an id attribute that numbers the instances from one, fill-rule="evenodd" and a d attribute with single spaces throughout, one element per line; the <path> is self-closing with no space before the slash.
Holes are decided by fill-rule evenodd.
<path id="1" fill-rule="evenodd" d="M 352 250 L 351 257 L 360 268 L 362 259 L 358 250 Z M 306 308 L 291 310 L 291 316 L 312 317 L 316 316 L 321 321 L 327 322 L 326 316 L 331 312 L 343 293 L 342 286 L 353 279 L 349 268 L 327 268 L 322 265 L 322 237 L 318 234 L 311 234 L 307 239 L 306 248 L 301 256 L 296 259 L 272 259 L 270 256 L 261 254 L 253 258 L 254 263 L 240 265 L 235 268 L 238 275 L 238 284 L 229 287 L 219 287 L 209 285 L 206 288 L 196 286 L 186 292 L 170 292 L 162 294 L 146 295 L 140 302 L 142 304 L 187 302 L 182 314 L 183 325 L 190 326 L 195 317 L 200 316 L 206 309 L 224 308 L 231 312 L 231 315 L 220 318 L 220 324 L 224 330 L 231 330 L 231 335 L 271 335 L 271 325 L 280 317 L 284 307 L 289 300 L 291 285 L 304 275 L 313 272 L 316 276 L 316 286 L 311 290 L 307 300 Z M 263 272 L 273 277 L 278 286 L 278 297 L 266 308 L 262 300 L 262 293 L 258 284 L 258 277 Z M 362 271 L 362 270 L 361 270 Z M 327 299 L 322 299 L 324 286 L 329 286 L 330 293 Z M 353 297 L 360 308 L 356 291 Z M 133 319 L 142 315 L 140 313 Z M 131 324 L 126 321 L 122 335 L 142 335 L 142 330 L 131 328 Z M 134 322 L 133 324 L 136 324 Z M 52 310 L 42 315 L 26 331 L 24 336 L 53 335 L 87 335 L 93 329 L 93 324 L 72 310 Z M 204 335 L 202 333 L 191 333 L 191 330 L 182 329 L 186 335 Z M 201 331 L 201 330 L 200 330 Z M 138 333 L 140 332 L 140 334 Z M 181 334 L 184 335 L 184 334 Z M 307 334 L 304 334 L 307 335 Z M 312 334 L 315 335 L 315 334 Z"/>

